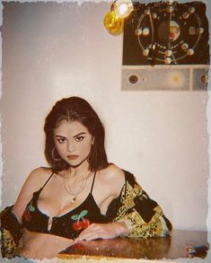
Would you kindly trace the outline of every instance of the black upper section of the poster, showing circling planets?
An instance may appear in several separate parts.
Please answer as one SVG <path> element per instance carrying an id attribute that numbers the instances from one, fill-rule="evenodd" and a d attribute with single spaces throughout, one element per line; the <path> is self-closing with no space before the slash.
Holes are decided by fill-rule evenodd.
<path id="1" fill-rule="evenodd" d="M 135 10 L 130 21 L 125 24 L 124 45 L 127 46 L 130 31 L 134 40 L 130 39 L 129 43 L 135 44 L 136 41 L 136 55 L 144 64 L 149 58 L 153 58 L 155 64 L 207 64 L 209 54 L 205 4 L 138 3 L 135 4 Z M 202 50 L 205 46 L 206 50 Z M 137 62 L 133 64 L 137 65 Z"/>

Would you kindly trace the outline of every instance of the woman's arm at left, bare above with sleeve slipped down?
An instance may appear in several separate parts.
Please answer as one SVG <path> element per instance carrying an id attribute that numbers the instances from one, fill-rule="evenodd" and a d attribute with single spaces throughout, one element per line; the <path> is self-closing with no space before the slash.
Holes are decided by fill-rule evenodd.
<path id="1" fill-rule="evenodd" d="M 22 238 L 22 214 L 31 200 L 33 192 L 40 188 L 46 179 L 44 170 L 39 168 L 31 171 L 13 206 L 4 208 L 1 212 L 1 250 L 3 258 L 12 259 Z"/>

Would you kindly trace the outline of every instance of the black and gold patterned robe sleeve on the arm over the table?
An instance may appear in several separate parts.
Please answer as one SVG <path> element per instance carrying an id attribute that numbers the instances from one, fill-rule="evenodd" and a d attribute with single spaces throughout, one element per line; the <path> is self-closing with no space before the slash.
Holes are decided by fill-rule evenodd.
<path id="1" fill-rule="evenodd" d="M 129 230 L 128 237 L 171 235 L 171 222 L 163 214 L 161 206 L 145 193 L 131 173 L 125 173 L 126 182 L 121 193 L 108 207 L 110 221 L 125 222 Z"/>

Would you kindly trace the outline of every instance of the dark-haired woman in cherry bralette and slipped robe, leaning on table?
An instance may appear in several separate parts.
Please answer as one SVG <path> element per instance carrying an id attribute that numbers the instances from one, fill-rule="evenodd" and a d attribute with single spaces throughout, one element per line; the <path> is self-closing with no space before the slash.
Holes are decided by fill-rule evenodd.
<path id="1" fill-rule="evenodd" d="M 57 101 L 44 130 L 50 167 L 31 171 L 2 212 L 3 257 L 53 258 L 77 241 L 170 234 L 161 207 L 107 161 L 104 128 L 87 101 Z"/>

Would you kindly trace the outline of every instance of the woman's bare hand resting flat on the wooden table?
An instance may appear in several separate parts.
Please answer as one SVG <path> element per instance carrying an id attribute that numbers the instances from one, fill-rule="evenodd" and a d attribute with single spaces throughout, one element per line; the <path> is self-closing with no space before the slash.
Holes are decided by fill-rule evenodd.
<path id="1" fill-rule="evenodd" d="M 113 239 L 120 234 L 128 232 L 125 223 L 110 223 L 110 224 L 90 224 L 83 232 L 80 233 L 75 241 L 92 241 L 96 239 Z"/>

